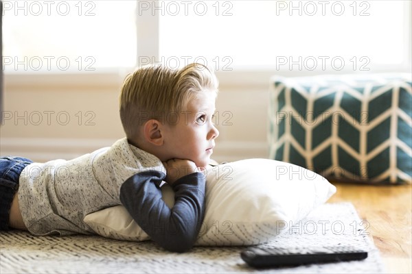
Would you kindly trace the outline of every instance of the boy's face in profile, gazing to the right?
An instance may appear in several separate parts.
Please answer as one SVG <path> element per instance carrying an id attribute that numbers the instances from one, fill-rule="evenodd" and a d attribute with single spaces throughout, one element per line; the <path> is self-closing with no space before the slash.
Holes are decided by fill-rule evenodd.
<path id="1" fill-rule="evenodd" d="M 196 166 L 207 166 L 219 132 L 212 123 L 215 92 L 200 92 L 179 113 L 179 121 L 167 127 L 165 149 L 171 158 L 191 160 Z"/>

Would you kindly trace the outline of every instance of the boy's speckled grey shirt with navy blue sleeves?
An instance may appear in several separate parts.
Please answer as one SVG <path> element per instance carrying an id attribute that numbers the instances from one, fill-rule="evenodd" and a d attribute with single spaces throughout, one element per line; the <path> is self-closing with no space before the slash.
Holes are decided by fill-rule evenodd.
<path id="1" fill-rule="evenodd" d="M 165 172 L 159 158 L 126 138 L 73 160 L 30 164 L 19 177 L 23 222 L 34 235 L 95 234 L 84 217 L 123 204 L 159 245 L 186 251 L 203 221 L 205 178 L 192 173 L 174 182 L 169 209 L 159 189 Z"/>

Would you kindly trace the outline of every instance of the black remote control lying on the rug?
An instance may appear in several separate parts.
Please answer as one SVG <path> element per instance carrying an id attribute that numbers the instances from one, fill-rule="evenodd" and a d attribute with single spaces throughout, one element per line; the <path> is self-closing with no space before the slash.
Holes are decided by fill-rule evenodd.
<path id="1" fill-rule="evenodd" d="M 298 266 L 323 262 L 363 260 L 367 251 L 350 245 L 328 247 L 249 247 L 240 253 L 249 266 L 255 268 Z"/>

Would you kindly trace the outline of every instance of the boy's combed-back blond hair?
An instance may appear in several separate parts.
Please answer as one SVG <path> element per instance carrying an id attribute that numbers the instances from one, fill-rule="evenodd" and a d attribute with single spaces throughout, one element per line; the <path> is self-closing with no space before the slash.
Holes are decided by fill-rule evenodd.
<path id="1" fill-rule="evenodd" d="M 120 94 L 120 119 L 126 137 L 139 138 L 139 128 L 150 119 L 169 123 L 169 114 L 181 114 L 196 92 L 218 92 L 218 79 L 198 63 L 179 70 L 147 65 L 126 76 Z"/>

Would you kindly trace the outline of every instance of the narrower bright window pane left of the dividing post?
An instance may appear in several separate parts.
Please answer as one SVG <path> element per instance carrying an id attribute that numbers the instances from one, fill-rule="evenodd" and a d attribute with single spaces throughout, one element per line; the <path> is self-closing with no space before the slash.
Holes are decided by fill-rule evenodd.
<path id="1" fill-rule="evenodd" d="M 135 66 L 135 1 L 3 1 L 6 73 Z"/>

